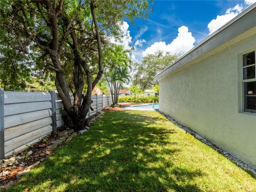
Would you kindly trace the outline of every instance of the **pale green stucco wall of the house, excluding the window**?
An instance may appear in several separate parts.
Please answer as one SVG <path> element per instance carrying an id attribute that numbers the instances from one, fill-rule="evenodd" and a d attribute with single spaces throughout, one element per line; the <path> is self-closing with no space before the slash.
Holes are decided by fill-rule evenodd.
<path id="1" fill-rule="evenodd" d="M 256 28 L 159 80 L 159 110 L 256 168 L 256 115 L 242 113 L 242 54 Z"/>

